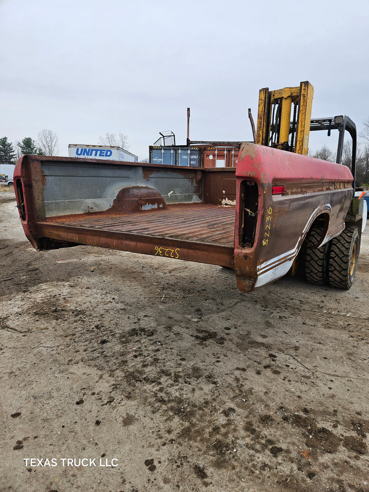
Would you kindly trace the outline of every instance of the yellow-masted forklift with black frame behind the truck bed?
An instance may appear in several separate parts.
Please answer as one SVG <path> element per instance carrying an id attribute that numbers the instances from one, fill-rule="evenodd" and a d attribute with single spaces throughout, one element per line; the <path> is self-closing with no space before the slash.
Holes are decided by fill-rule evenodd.
<path id="1" fill-rule="evenodd" d="M 338 130 L 337 164 L 342 164 L 345 131 L 351 136 L 353 196 L 345 217 L 345 229 L 321 246 L 325 224 L 322 220 L 316 220 L 291 268 L 292 276 L 303 272 L 310 283 L 349 289 L 355 277 L 361 234 L 367 221 L 367 204 L 362 198 L 364 192 L 355 197 L 356 125 L 346 115 L 311 119 L 313 92 L 312 85 L 307 81 L 301 82 L 299 87 L 285 87 L 276 91 L 261 89 L 256 132 L 250 110 L 249 117 L 256 144 L 295 154 L 308 155 L 310 131 L 327 131 L 330 136 L 332 130 Z M 339 184 L 334 185 L 336 188 Z"/>

